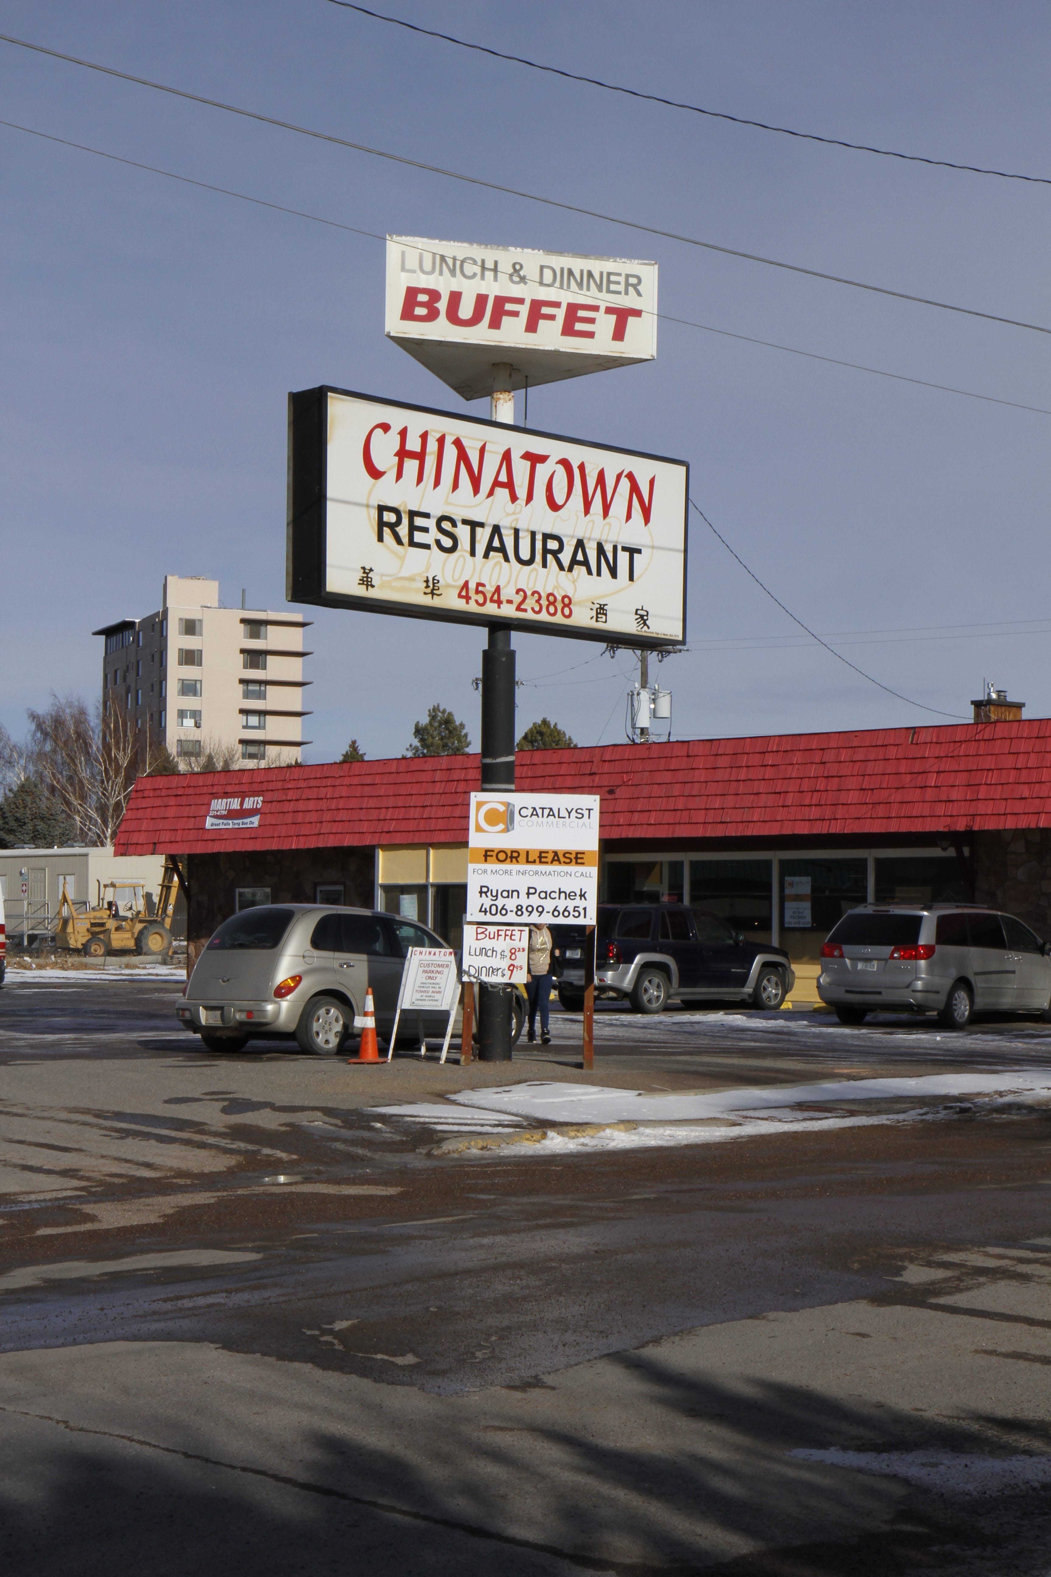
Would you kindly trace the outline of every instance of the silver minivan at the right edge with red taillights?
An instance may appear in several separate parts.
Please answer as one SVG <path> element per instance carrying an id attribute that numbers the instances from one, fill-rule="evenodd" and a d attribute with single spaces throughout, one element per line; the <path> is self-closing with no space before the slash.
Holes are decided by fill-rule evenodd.
<path id="1" fill-rule="evenodd" d="M 1051 1022 L 1051 943 L 1013 915 L 960 904 L 852 908 L 821 948 L 821 1001 L 840 1023 L 870 1012 L 936 1012 L 963 1030 L 974 1012 Z"/>

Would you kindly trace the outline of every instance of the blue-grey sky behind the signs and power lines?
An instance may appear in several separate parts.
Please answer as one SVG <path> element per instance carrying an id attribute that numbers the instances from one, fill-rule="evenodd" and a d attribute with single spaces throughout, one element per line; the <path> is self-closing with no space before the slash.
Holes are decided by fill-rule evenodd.
<path id="1" fill-rule="evenodd" d="M 380 9 L 383 6 L 378 6 Z M 1051 11 L 389 0 L 589 76 L 1051 175 Z M 0 32 L 660 229 L 1051 323 L 1051 188 L 603 93 L 326 0 L 0 0 Z M 1051 410 L 1048 336 L 646 238 L 0 44 L 3 118 L 377 233 L 654 257 L 676 317 Z M 98 692 L 90 631 L 165 571 L 284 601 L 285 396 L 485 415 L 383 336 L 383 246 L 0 126 L 0 721 Z M 813 629 L 914 702 L 988 675 L 1051 711 L 1051 416 L 662 323 L 652 364 L 536 390 L 533 426 L 690 460 L 693 495 Z M 481 631 L 317 610 L 307 760 L 397 755 L 433 702 L 477 744 Z M 674 735 L 936 722 L 807 642 L 700 522 Z M 518 724 L 622 738 L 627 654 L 517 637 Z"/>

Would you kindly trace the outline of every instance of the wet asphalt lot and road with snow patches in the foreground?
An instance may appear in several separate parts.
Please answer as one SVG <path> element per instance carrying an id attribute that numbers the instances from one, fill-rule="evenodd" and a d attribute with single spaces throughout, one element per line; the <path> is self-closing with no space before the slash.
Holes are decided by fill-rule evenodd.
<path id="1" fill-rule="evenodd" d="M 0 990 L 6 1569 L 1051 1572 L 1051 1027 L 353 1068 L 176 994 Z"/>

